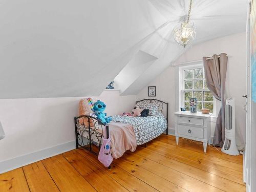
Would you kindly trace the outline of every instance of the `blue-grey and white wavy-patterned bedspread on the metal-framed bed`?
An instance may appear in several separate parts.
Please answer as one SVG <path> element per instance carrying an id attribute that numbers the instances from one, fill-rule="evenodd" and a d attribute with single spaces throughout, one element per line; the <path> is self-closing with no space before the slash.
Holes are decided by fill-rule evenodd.
<path id="1" fill-rule="evenodd" d="M 167 128 L 167 121 L 164 115 L 147 117 L 124 117 L 112 116 L 112 121 L 128 123 L 133 125 L 137 145 L 142 145 L 161 135 Z"/>

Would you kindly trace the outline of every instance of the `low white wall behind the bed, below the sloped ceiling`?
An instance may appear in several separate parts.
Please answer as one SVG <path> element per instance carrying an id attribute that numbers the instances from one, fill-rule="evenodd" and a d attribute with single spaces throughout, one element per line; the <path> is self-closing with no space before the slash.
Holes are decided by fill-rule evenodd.
<path id="1" fill-rule="evenodd" d="M 92 98 L 106 103 L 108 116 L 131 111 L 136 102 L 136 96 L 119 96 L 113 90 Z M 0 121 L 6 135 L 0 140 L 0 173 L 3 161 L 74 141 L 80 99 L 0 99 Z"/>

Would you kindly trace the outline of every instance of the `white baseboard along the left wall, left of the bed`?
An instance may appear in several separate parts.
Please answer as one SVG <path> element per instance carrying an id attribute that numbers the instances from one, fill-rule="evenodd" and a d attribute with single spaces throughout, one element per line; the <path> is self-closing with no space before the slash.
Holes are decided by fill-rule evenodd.
<path id="1" fill-rule="evenodd" d="M 61 153 L 65 153 L 76 148 L 76 141 L 69 141 L 67 143 L 62 143 L 55 145 L 44 150 L 33 152 L 27 155 L 15 157 L 13 159 L 5 160 L 0 162 L 0 174 L 9 172 L 15 168 L 19 168 L 42 159 L 46 159 Z"/>

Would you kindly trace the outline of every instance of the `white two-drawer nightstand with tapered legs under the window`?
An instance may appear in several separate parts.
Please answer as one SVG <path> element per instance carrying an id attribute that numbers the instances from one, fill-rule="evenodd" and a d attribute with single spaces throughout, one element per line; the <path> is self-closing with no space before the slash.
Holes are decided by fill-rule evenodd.
<path id="1" fill-rule="evenodd" d="M 210 144 L 210 114 L 202 112 L 191 113 L 188 111 L 175 112 L 175 136 L 179 144 L 179 137 L 203 142 L 204 153 L 207 143 Z"/>

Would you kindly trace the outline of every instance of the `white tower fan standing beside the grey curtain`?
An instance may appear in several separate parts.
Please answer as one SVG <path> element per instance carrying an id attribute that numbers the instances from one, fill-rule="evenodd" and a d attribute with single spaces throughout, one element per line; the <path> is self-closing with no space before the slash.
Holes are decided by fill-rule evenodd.
<path id="1" fill-rule="evenodd" d="M 226 100 L 225 106 L 225 141 L 221 148 L 228 155 L 239 155 L 236 144 L 236 108 L 234 98 Z"/>

